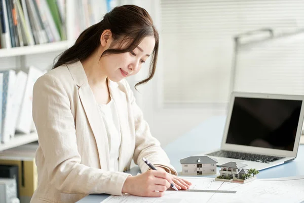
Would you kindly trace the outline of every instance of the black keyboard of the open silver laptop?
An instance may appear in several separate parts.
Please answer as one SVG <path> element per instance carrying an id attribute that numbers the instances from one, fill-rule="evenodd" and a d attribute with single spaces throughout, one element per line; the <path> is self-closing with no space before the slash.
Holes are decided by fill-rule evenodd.
<path id="1" fill-rule="evenodd" d="M 246 161 L 256 161 L 256 162 L 261 162 L 261 163 L 270 163 L 270 162 L 284 158 L 284 157 L 278 157 L 278 156 L 267 156 L 267 155 L 260 155 L 260 154 L 231 152 L 231 151 L 223 151 L 223 150 L 216 151 L 216 152 L 206 154 L 206 155 L 241 159 L 241 160 L 246 160 Z"/>

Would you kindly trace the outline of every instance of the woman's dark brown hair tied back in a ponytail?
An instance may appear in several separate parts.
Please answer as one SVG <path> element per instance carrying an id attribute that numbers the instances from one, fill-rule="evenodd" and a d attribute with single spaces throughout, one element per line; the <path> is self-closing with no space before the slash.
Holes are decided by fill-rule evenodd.
<path id="1" fill-rule="evenodd" d="M 153 20 L 148 12 L 145 9 L 135 5 L 115 7 L 112 11 L 106 13 L 100 22 L 84 30 L 73 46 L 55 58 L 55 61 L 57 58 L 58 60 L 57 62 L 54 62 L 55 64 L 53 69 L 60 65 L 70 64 L 89 57 L 95 51 L 95 49 L 99 47 L 101 34 L 106 29 L 111 30 L 113 42 L 109 49 L 105 50 L 101 54 L 100 58 L 108 54 L 130 52 L 139 45 L 143 38 L 154 36 L 155 47 L 153 54 L 151 55 L 152 59 L 150 62 L 149 76 L 146 79 L 138 82 L 135 85 L 135 88 L 137 85 L 151 80 L 156 69 L 159 49 L 159 33 L 156 30 Z M 112 48 L 117 43 L 123 44 L 124 42 L 128 42 L 127 48 Z"/>

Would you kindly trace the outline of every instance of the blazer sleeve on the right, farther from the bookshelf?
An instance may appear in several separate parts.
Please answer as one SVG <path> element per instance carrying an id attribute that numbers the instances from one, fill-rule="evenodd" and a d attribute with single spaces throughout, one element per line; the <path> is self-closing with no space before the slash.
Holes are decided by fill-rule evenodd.
<path id="1" fill-rule="evenodd" d="M 137 106 L 133 92 L 126 80 L 127 94 L 132 107 L 132 113 L 135 124 L 135 151 L 133 155 L 134 163 L 140 167 L 141 172 L 146 172 L 149 166 L 142 161 L 142 157 L 148 159 L 151 163 L 163 166 L 170 170 L 171 174 L 177 175 L 175 168 L 170 164 L 166 152 L 161 148 L 160 142 L 151 135 L 148 123 L 143 119 L 143 114 Z M 169 173 L 170 173 L 169 172 Z"/>

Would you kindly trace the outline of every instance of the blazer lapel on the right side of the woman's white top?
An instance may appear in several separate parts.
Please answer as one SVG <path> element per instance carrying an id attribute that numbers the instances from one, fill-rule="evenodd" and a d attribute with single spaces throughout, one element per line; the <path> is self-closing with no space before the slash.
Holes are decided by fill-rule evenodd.
<path id="1" fill-rule="evenodd" d="M 127 98 L 126 94 L 118 88 L 118 84 L 108 80 L 108 86 L 111 96 L 115 102 L 117 108 L 117 114 L 119 117 L 120 128 L 121 128 L 121 147 L 119 153 L 118 170 L 120 172 L 125 171 L 125 161 L 127 160 L 128 153 L 128 138 L 127 133 L 130 133 L 128 125 L 128 115 L 127 115 Z M 123 153 L 124 152 L 124 153 Z M 129 160 L 128 160 L 129 161 Z"/>

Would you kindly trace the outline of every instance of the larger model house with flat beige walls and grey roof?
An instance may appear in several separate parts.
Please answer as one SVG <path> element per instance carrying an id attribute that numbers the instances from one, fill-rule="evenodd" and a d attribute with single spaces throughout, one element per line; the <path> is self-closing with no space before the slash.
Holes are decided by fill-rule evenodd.
<path id="1" fill-rule="evenodd" d="M 208 156 L 189 156 L 180 160 L 182 175 L 216 174 L 216 163 L 216 159 Z"/>

